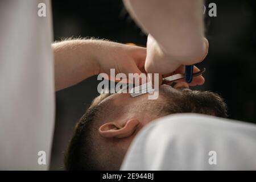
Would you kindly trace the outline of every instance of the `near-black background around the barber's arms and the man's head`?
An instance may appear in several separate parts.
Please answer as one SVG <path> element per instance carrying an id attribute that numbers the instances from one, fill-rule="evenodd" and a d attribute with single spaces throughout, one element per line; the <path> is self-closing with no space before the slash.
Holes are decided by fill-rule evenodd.
<path id="1" fill-rule="evenodd" d="M 256 123 L 256 3 L 206 1 L 217 5 L 217 17 L 205 13 L 209 54 L 199 68 L 207 68 L 204 86 L 225 98 L 229 118 Z M 120 0 L 52 1 L 54 39 L 94 37 L 146 46 L 147 36 L 136 26 Z M 56 93 L 56 125 L 51 169 L 63 170 L 63 151 L 73 127 L 97 93 L 91 77 Z"/>

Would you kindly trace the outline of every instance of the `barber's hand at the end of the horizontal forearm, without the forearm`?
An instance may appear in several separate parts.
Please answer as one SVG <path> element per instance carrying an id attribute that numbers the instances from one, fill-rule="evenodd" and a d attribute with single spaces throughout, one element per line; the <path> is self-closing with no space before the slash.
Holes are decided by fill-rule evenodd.
<path id="1" fill-rule="evenodd" d="M 144 63 L 146 60 L 146 48 L 129 46 L 126 44 L 99 41 L 101 47 L 97 53 L 99 73 L 110 75 L 110 69 L 115 69 L 115 74 L 146 73 Z"/>

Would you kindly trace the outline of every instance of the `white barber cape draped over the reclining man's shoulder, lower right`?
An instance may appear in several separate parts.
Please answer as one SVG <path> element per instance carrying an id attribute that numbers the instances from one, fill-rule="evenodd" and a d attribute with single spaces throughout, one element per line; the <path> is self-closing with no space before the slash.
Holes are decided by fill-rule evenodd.
<path id="1" fill-rule="evenodd" d="M 256 125 L 174 114 L 135 137 L 122 170 L 256 170 Z"/>

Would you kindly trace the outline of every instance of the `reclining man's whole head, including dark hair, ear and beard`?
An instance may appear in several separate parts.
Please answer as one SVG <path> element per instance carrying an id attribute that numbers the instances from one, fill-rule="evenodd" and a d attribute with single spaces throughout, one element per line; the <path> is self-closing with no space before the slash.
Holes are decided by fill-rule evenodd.
<path id="1" fill-rule="evenodd" d="M 189 90 L 185 82 L 160 86 L 157 100 L 148 100 L 148 94 L 102 94 L 77 123 L 68 168 L 118 170 L 137 133 L 154 119 L 175 113 L 226 117 L 226 105 L 217 94 Z"/>

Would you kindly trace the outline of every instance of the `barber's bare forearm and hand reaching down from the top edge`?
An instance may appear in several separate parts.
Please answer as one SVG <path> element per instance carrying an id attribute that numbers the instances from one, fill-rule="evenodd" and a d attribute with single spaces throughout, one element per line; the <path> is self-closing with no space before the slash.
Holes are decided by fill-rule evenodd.
<path id="1" fill-rule="evenodd" d="M 142 30 L 150 34 L 145 63 L 148 73 L 164 75 L 205 59 L 209 43 L 204 38 L 202 0 L 123 2 Z"/>

